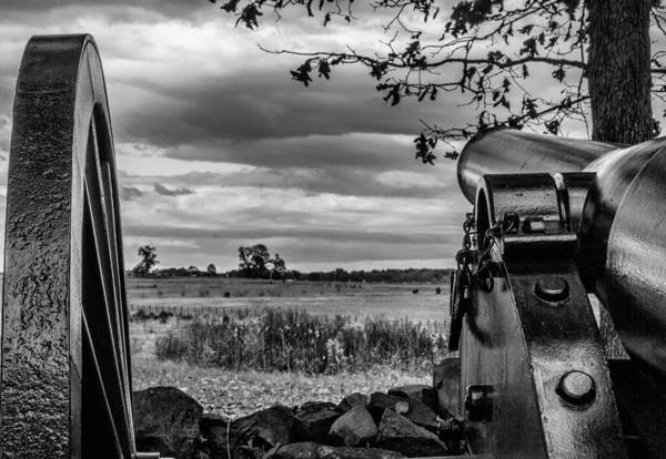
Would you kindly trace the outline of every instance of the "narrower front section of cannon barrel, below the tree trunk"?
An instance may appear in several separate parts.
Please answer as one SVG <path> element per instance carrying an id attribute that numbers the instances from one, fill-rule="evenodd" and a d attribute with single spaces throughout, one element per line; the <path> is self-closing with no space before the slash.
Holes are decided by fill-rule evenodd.
<path id="1" fill-rule="evenodd" d="M 619 146 L 511 128 L 493 129 L 476 135 L 461 152 L 458 184 L 467 201 L 474 204 L 478 180 L 485 174 L 582 172 Z"/>

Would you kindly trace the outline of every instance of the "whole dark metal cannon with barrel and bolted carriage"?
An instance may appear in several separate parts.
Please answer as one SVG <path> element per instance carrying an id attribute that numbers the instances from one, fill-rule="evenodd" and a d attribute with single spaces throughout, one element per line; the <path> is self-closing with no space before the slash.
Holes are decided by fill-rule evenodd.
<path id="1" fill-rule="evenodd" d="M 457 175 L 473 210 L 450 349 L 473 456 L 665 457 L 666 139 L 500 128 L 465 145 Z M 595 298 L 626 354 L 607 358 Z"/>

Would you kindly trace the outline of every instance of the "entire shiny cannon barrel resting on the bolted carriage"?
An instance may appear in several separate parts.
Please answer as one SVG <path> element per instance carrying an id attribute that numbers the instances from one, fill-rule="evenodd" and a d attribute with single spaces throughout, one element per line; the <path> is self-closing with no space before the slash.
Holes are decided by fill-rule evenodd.
<path id="1" fill-rule="evenodd" d="M 463 149 L 458 183 L 474 203 L 485 174 L 593 172 L 572 205 L 578 268 L 627 353 L 666 375 L 666 139 L 609 143 L 486 131 Z M 557 177 L 556 177 L 557 178 Z"/>

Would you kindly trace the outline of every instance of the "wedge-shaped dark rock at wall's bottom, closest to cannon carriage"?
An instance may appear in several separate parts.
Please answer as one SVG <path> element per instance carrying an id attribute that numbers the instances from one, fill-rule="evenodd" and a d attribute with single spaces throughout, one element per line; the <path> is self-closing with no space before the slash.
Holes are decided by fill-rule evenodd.
<path id="1" fill-rule="evenodd" d="M 376 445 L 408 458 L 446 455 L 446 447 L 436 435 L 389 409 L 380 422 Z"/>

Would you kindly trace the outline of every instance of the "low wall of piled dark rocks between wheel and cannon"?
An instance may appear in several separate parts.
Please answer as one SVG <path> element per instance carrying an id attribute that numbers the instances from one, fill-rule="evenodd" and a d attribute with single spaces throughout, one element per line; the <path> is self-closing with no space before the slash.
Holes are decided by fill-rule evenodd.
<path id="1" fill-rule="evenodd" d="M 232 421 L 173 387 L 134 392 L 139 451 L 175 459 L 393 459 L 465 452 L 457 411 L 458 360 L 431 386 L 351 394 L 337 405 L 274 406 Z M 455 386 L 455 387 L 454 387 Z"/>

